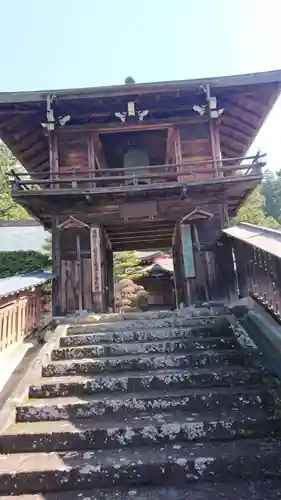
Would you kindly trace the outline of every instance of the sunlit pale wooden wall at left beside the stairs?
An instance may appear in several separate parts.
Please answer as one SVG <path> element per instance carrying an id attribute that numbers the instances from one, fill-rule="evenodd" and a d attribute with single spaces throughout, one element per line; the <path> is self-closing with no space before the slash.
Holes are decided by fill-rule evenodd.
<path id="1" fill-rule="evenodd" d="M 40 324 L 41 288 L 0 299 L 0 351 L 23 341 Z"/>

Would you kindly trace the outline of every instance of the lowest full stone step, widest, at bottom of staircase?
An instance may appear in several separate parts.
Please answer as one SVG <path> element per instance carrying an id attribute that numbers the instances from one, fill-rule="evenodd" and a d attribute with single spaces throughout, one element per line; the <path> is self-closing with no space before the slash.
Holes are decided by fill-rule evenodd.
<path id="1" fill-rule="evenodd" d="M 281 442 L 244 439 L 0 456 L 0 494 L 276 478 Z"/>

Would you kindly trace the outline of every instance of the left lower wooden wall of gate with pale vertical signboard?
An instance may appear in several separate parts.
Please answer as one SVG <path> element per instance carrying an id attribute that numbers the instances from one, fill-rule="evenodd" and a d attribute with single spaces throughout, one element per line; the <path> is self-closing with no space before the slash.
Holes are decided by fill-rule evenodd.
<path id="1" fill-rule="evenodd" d="M 59 280 L 54 314 L 113 308 L 113 256 L 103 229 L 66 228 L 56 231 L 56 238 Z"/>

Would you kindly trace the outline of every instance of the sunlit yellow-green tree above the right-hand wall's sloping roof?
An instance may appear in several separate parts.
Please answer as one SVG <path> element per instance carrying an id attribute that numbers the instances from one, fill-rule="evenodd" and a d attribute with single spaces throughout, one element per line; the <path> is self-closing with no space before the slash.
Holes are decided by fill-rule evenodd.
<path id="1" fill-rule="evenodd" d="M 265 197 L 262 195 L 259 188 L 255 189 L 255 191 L 248 196 L 247 200 L 238 210 L 236 217 L 232 219 L 232 224 L 239 224 L 240 222 L 249 222 L 264 227 L 278 226 L 278 221 L 266 215 Z"/>

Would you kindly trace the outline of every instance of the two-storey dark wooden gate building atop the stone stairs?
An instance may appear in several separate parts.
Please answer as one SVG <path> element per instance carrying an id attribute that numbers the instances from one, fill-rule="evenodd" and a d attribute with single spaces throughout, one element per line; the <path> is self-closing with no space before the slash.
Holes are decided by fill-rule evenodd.
<path id="1" fill-rule="evenodd" d="M 13 197 L 52 230 L 54 314 L 112 308 L 122 250 L 172 247 L 178 303 L 224 294 L 216 241 L 262 179 L 264 156 L 245 155 L 280 84 L 273 71 L 0 94 L 26 169 Z"/>

